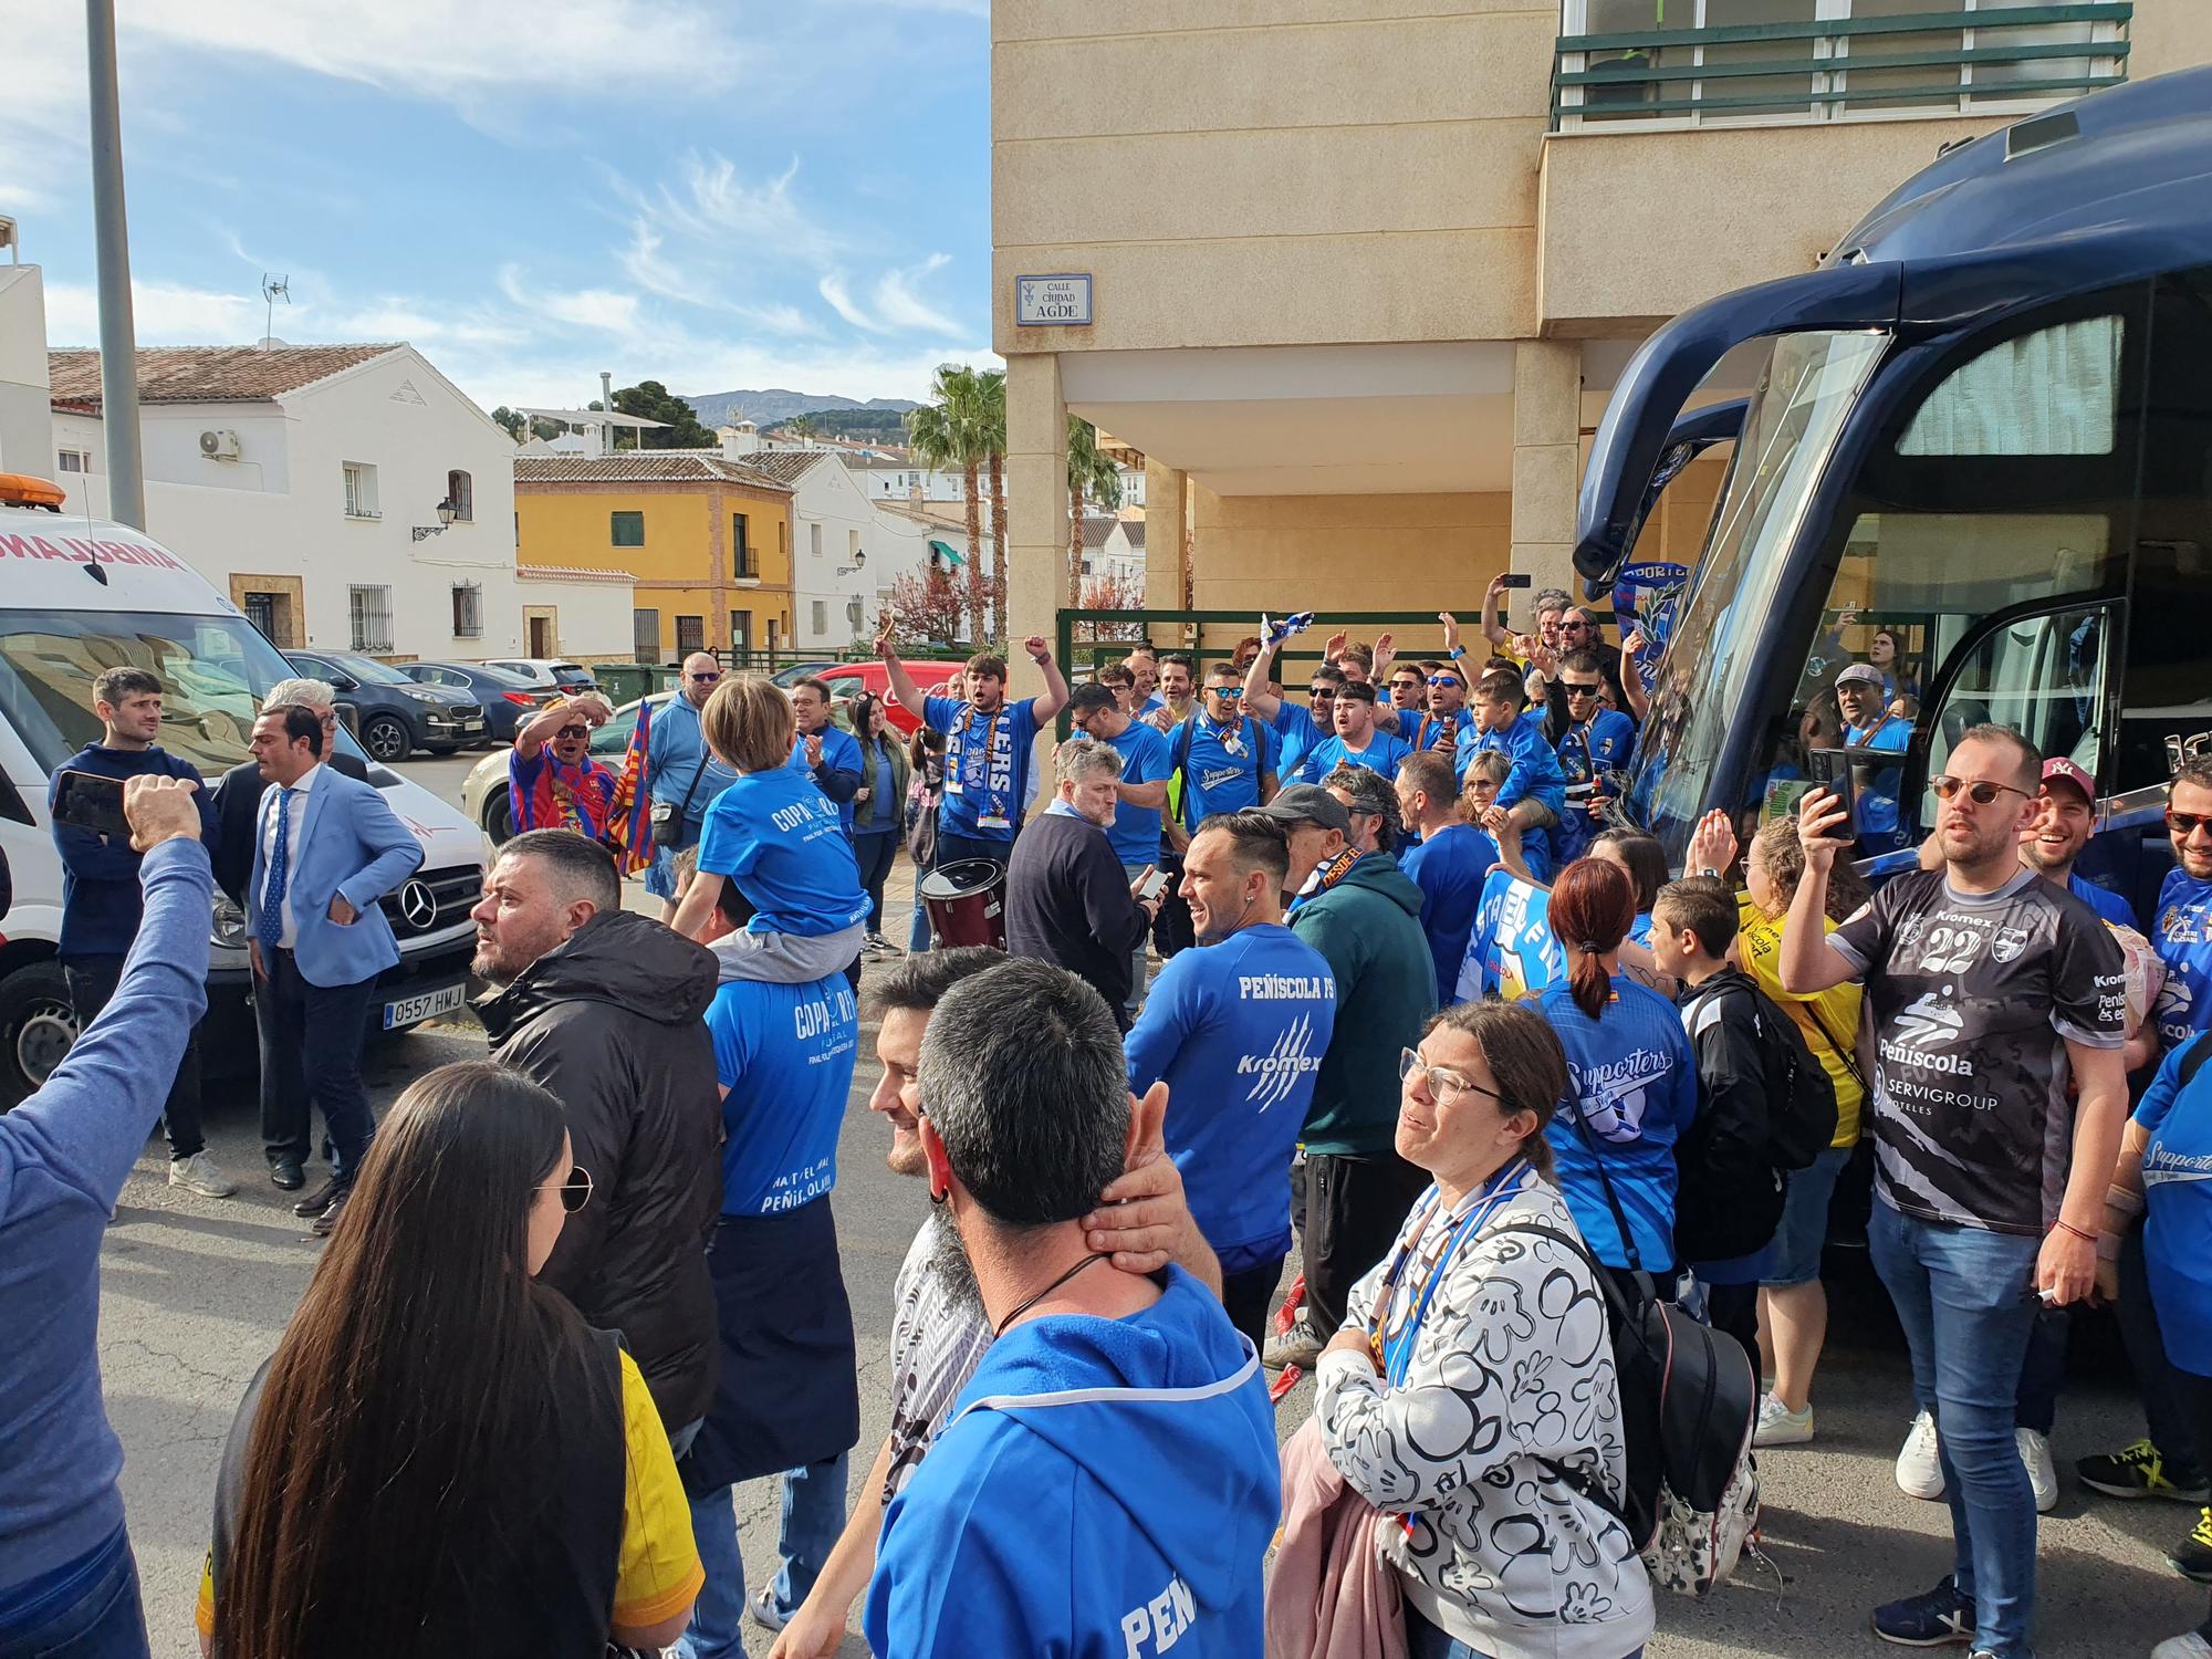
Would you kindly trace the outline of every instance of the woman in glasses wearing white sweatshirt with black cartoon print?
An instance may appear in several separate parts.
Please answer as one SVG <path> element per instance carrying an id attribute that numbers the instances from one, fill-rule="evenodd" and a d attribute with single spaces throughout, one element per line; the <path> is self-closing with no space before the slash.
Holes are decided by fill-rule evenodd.
<path id="1" fill-rule="evenodd" d="M 1526 1004 L 1462 1002 L 1400 1077 L 1398 1155 L 1433 1186 L 1321 1354 L 1323 1449 L 1389 1517 L 1413 1659 L 1632 1659 L 1650 1582 L 1586 1495 L 1628 1478 L 1606 1303 L 1544 1141 L 1559 1040 Z"/>

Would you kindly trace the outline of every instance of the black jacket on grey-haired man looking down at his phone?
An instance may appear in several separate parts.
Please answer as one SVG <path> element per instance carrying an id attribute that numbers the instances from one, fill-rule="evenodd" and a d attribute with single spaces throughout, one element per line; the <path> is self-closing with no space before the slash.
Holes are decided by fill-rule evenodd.
<path id="1" fill-rule="evenodd" d="M 1088 818 L 1040 812 L 1006 863 L 1006 949 L 1088 980 L 1128 1031 L 1130 953 L 1152 918 L 1128 894 L 1106 832 Z"/>

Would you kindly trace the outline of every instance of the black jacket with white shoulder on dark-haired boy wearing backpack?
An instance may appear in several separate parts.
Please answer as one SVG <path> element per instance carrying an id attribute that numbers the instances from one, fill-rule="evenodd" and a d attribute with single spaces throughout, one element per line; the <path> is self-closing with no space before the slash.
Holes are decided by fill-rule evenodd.
<path id="1" fill-rule="evenodd" d="M 1765 1250 L 1783 1219 L 1783 1177 L 1767 1152 L 1774 1093 L 1759 998 L 1743 969 L 1721 969 L 1677 998 L 1697 1055 L 1697 1121 L 1674 1144 L 1674 1250 L 1683 1265 Z"/>

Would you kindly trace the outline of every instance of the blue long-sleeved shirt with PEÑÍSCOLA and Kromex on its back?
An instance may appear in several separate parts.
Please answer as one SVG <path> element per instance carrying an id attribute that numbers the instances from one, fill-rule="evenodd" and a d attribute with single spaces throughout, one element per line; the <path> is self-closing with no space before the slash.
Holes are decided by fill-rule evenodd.
<path id="1" fill-rule="evenodd" d="M 1168 1155 L 1225 1274 L 1290 1250 L 1290 1155 L 1334 1029 L 1327 958 L 1263 922 L 1170 956 L 1126 1037 L 1130 1091 L 1168 1079 Z"/>

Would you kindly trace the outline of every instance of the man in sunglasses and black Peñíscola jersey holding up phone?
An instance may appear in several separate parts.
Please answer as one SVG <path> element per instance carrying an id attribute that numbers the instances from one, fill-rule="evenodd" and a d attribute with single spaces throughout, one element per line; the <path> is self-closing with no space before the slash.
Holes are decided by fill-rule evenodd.
<path id="1" fill-rule="evenodd" d="M 2128 1113 L 2119 945 L 2020 860 L 2039 783 L 2033 743 L 1969 728 L 1951 770 L 1929 781 L 1944 869 L 1893 878 L 1827 936 L 1829 872 L 1854 841 L 1838 799 L 1807 794 L 1805 876 L 1778 960 L 1792 995 L 1867 984 L 1878 1199 L 1867 1243 L 1918 1389 L 1936 1400 L 1958 1544 L 1958 1573 L 1876 1608 L 1874 1630 L 1993 1657 L 2028 1652 L 2035 1615 L 2020 1365 L 2037 1307 L 2077 1303 L 2097 1281 Z"/>

